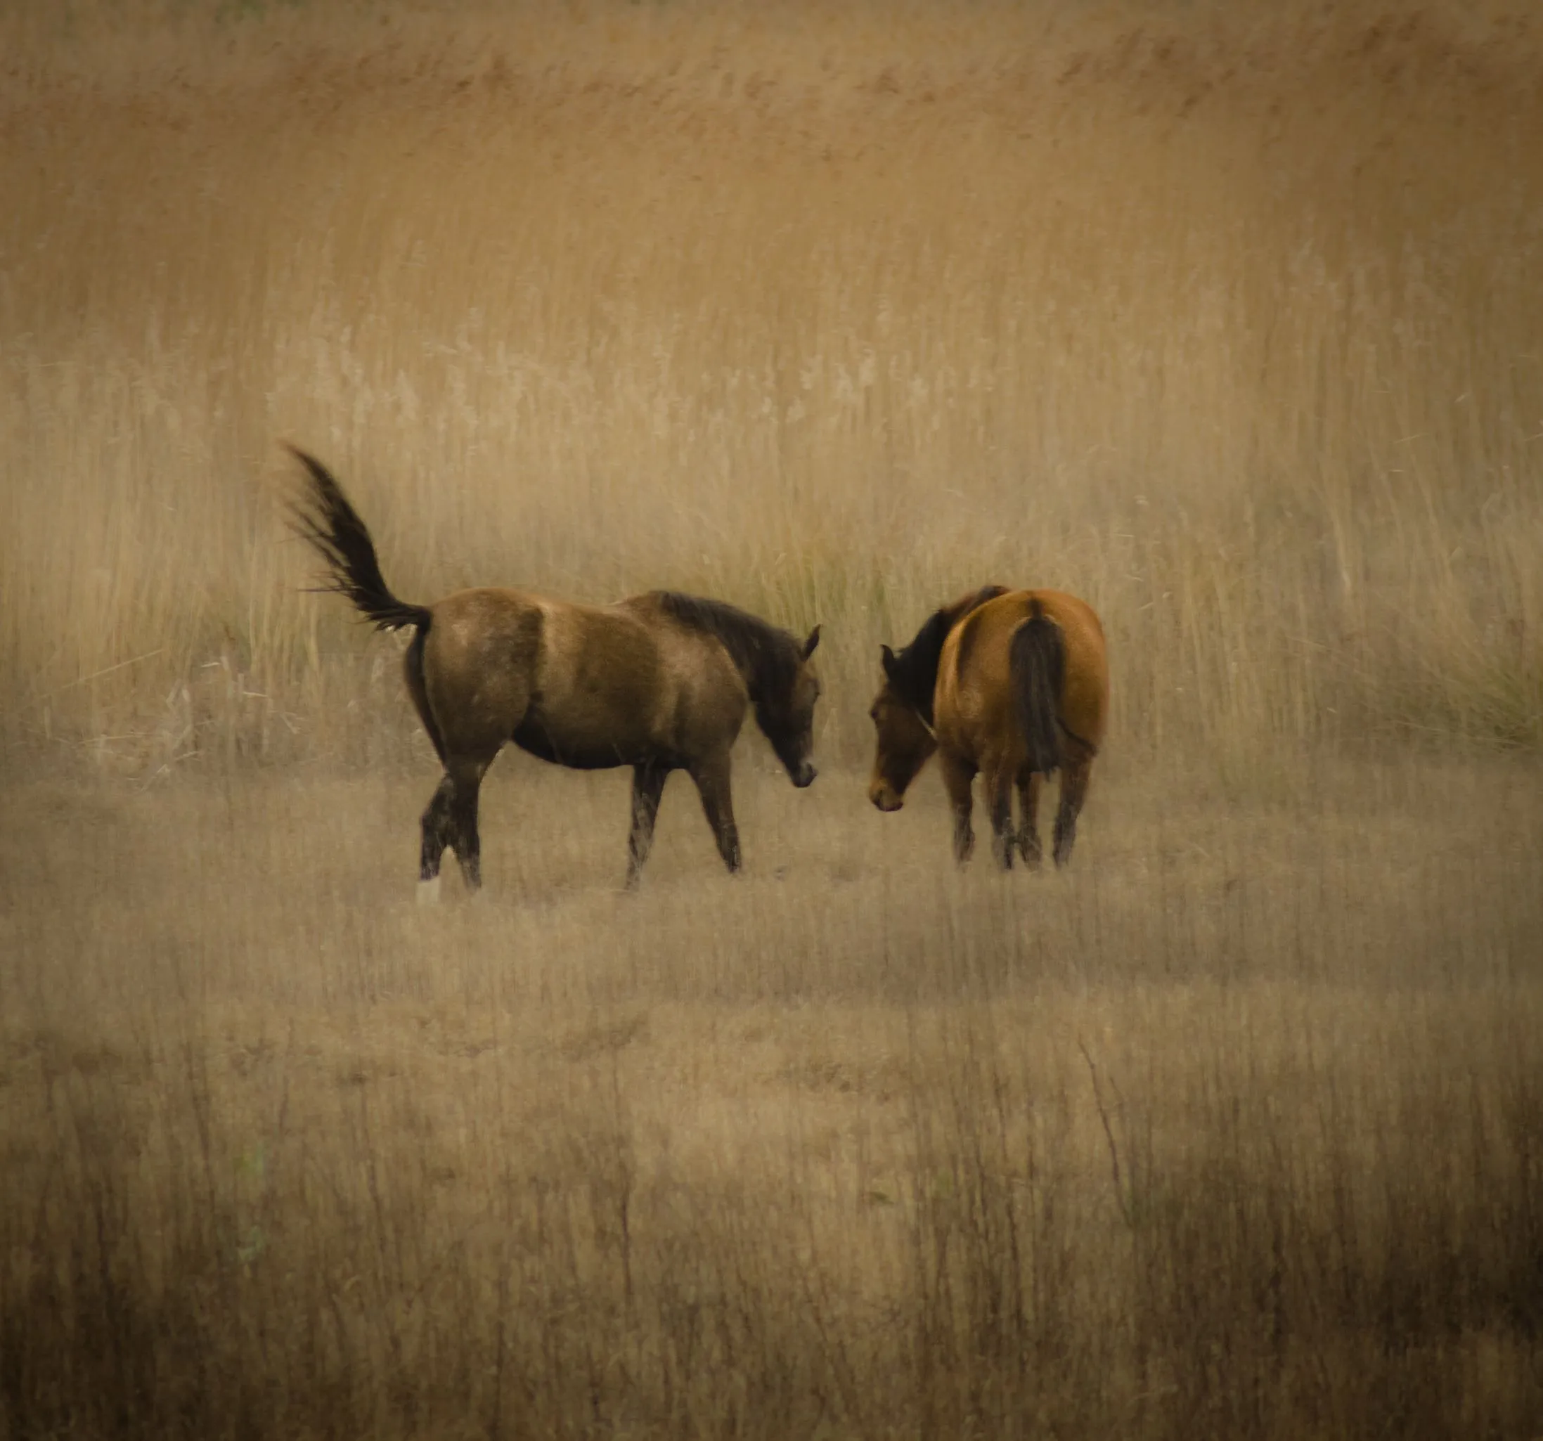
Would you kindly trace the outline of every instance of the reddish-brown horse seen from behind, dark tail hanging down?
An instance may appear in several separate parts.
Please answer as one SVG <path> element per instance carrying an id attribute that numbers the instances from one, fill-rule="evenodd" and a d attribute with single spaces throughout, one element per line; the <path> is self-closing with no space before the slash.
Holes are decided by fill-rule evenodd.
<path id="1" fill-rule="evenodd" d="M 954 807 L 954 856 L 975 847 L 971 784 L 984 776 L 992 849 L 1003 870 L 1014 845 L 1040 864 L 1043 779 L 1062 773 L 1055 864 L 1071 859 L 1077 813 L 1103 742 L 1109 665 L 1092 609 L 1060 591 L 989 585 L 934 613 L 900 654 L 883 648 L 884 687 L 869 713 L 878 730 L 869 799 L 900 810 L 934 751 Z M 1017 787 L 1023 822 L 1012 830 Z"/>

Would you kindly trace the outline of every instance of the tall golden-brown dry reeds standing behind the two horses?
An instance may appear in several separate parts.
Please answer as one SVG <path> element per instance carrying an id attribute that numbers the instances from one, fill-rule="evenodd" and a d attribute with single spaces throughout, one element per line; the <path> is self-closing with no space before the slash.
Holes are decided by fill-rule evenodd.
<path id="1" fill-rule="evenodd" d="M 821 619 L 849 758 L 988 577 L 1137 748 L 1543 734 L 1524 11 L 69 14 L 3 22 L 12 747 L 350 744 L 279 437 L 407 596 Z"/>

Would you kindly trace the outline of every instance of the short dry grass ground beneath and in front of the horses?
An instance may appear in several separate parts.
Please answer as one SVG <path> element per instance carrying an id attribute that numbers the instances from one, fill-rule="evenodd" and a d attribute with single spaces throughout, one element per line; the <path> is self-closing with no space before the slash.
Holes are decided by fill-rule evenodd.
<path id="1" fill-rule="evenodd" d="M 12 796 L 15 1435 L 1529 1435 L 1543 901 L 1515 774 L 1106 788 L 958 876 L 941 798 L 509 764 Z"/>

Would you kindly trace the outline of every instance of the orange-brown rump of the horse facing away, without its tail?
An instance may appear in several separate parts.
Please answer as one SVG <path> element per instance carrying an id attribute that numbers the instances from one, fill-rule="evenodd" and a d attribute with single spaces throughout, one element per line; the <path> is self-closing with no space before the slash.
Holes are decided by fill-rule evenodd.
<path id="1" fill-rule="evenodd" d="M 1108 724 L 1109 671 L 1092 606 L 1065 591 L 1008 591 L 971 611 L 949 634 L 938 671 L 940 741 L 978 753 L 1015 734 L 1012 639 L 1043 613 L 1062 633 L 1060 719 L 1097 747 Z"/>

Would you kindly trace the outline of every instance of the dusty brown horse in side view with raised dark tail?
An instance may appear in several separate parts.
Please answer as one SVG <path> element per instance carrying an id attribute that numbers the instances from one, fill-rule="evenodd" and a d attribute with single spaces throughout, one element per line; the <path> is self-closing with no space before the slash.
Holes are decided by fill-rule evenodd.
<path id="1" fill-rule="evenodd" d="M 423 813 L 424 898 L 438 887 L 446 845 L 468 887 L 481 884 L 477 791 L 506 741 L 574 770 L 633 767 L 628 889 L 673 770 L 696 782 L 717 852 L 739 870 L 728 753 L 747 710 L 793 784 L 815 779 L 819 680 L 809 657 L 818 625 L 798 640 L 731 605 L 673 591 L 591 606 L 471 589 L 407 605 L 381 579 L 370 532 L 338 481 L 313 457 L 295 457 L 307 475 L 292 523 L 327 565 L 322 589 L 346 596 L 378 629 L 415 631 L 407 691 L 444 767 Z"/>

